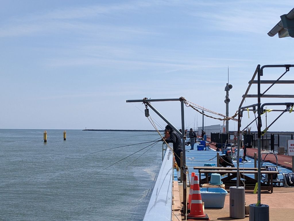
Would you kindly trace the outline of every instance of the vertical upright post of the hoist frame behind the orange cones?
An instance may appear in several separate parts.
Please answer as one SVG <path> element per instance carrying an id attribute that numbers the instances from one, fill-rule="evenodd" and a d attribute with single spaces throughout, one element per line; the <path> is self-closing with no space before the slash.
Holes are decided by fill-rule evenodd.
<path id="1" fill-rule="evenodd" d="M 184 116 L 184 101 L 181 100 L 181 117 L 182 117 L 182 145 L 183 145 L 183 213 L 186 215 L 187 202 L 187 176 L 186 176 L 186 146 L 185 146 L 185 116 Z"/>

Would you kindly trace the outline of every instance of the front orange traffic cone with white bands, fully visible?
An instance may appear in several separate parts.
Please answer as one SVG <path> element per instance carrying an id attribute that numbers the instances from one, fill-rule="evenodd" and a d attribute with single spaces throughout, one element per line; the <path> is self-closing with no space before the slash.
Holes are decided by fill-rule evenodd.
<path id="1" fill-rule="evenodd" d="M 188 220 L 209 220 L 208 215 L 204 214 L 203 211 L 199 180 L 197 175 L 194 177 L 191 210 L 187 218 Z"/>

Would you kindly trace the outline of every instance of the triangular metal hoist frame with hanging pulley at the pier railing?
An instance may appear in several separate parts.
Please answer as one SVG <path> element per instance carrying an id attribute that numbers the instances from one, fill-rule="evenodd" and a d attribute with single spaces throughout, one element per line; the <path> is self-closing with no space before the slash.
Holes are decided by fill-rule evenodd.
<path id="1" fill-rule="evenodd" d="M 161 101 L 180 101 L 181 102 L 181 121 L 182 121 L 182 133 L 175 127 L 171 122 L 169 122 L 161 113 L 159 113 L 158 110 L 156 110 L 150 102 L 161 102 Z M 183 214 L 186 215 L 187 208 L 186 208 L 186 203 L 187 203 L 187 175 L 186 175 L 186 146 L 185 146 L 185 116 L 184 116 L 184 100 L 182 98 L 173 98 L 173 99 L 148 99 L 148 98 L 143 98 L 143 100 L 126 100 L 127 103 L 133 103 L 133 102 L 143 102 L 146 106 L 150 107 L 158 116 L 161 117 L 168 125 L 170 125 L 182 138 L 182 146 L 183 146 L 183 160 L 182 160 L 182 165 L 183 167 L 181 168 L 181 174 L 183 174 Z M 148 112 L 148 111 L 147 111 Z M 146 113 L 145 111 L 145 116 L 148 117 L 149 113 Z M 179 156 L 180 157 L 180 156 Z"/>

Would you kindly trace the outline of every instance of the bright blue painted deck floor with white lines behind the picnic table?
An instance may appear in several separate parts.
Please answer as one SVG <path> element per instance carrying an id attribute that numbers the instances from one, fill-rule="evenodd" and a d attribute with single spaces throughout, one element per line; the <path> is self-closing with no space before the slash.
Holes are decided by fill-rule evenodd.
<path id="1" fill-rule="evenodd" d="M 196 146 L 196 144 L 195 144 Z M 214 150 L 206 150 L 206 151 L 197 151 L 197 149 L 190 150 L 190 146 L 186 146 L 186 165 L 188 166 L 189 170 L 189 177 L 191 180 L 191 173 L 195 172 L 195 174 L 199 177 L 198 170 L 194 170 L 194 166 L 204 166 L 204 164 L 216 164 L 217 165 L 217 159 L 216 159 L 216 153 L 217 151 Z M 219 152 L 220 156 L 222 155 L 222 152 Z M 240 162 L 239 167 L 240 170 L 242 170 L 243 167 L 254 167 L 254 159 L 247 158 L 247 162 Z M 237 161 L 233 161 L 235 167 L 237 167 Z M 264 162 L 263 166 L 276 166 L 274 164 Z M 280 174 L 278 175 L 279 179 L 283 179 L 282 173 L 290 173 L 292 172 L 289 169 L 283 168 L 281 166 L 278 166 L 278 171 Z M 254 174 L 246 174 L 249 177 L 254 178 Z M 205 178 L 204 176 L 201 176 L 201 179 Z M 283 184 L 281 184 L 283 185 Z"/>

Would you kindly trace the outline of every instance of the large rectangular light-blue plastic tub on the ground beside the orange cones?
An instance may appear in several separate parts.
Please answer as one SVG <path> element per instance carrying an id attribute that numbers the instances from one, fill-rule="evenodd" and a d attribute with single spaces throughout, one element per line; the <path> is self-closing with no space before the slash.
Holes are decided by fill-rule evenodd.
<path id="1" fill-rule="evenodd" d="M 201 192 L 208 191 L 208 192 Z M 223 188 L 200 188 L 201 199 L 205 208 L 223 208 L 225 205 L 225 195 L 228 192 Z"/>

